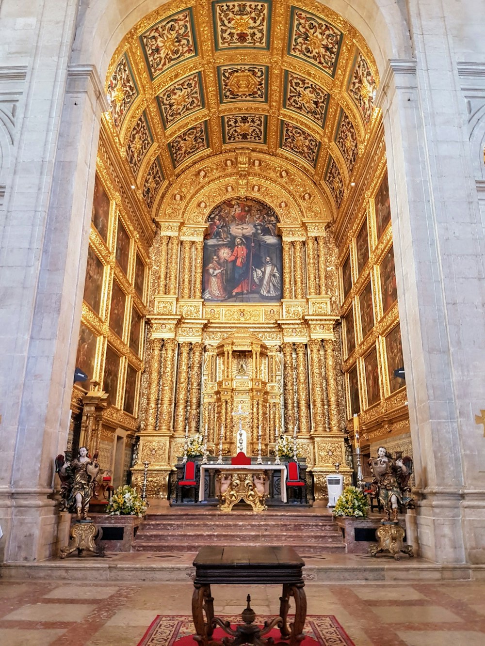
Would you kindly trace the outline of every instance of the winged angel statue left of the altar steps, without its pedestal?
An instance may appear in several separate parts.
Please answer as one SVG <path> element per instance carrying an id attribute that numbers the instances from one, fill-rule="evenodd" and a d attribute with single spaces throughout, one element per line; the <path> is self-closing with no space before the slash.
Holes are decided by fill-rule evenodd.
<path id="1" fill-rule="evenodd" d="M 96 476 L 100 473 L 98 453 L 92 459 L 86 446 L 81 446 L 78 457 L 65 462 L 63 455 L 56 457 L 56 472 L 61 481 L 61 511 L 76 514 L 78 520 L 91 520 L 87 517 Z"/>

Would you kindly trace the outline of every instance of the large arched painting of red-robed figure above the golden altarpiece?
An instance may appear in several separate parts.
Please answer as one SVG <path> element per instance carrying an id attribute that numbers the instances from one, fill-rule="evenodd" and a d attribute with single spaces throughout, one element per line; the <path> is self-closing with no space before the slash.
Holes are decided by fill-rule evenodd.
<path id="1" fill-rule="evenodd" d="M 230 200 L 213 209 L 204 240 L 203 298 L 277 302 L 283 295 L 278 218 L 256 200 Z"/>

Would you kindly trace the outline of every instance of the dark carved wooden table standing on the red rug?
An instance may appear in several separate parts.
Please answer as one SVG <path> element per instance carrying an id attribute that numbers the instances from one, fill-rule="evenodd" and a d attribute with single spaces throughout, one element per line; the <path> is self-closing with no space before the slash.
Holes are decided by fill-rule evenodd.
<path id="1" fill-rule="evenodd" d="M 232 646 L 244 643 L 264 645 L 268 643 L 264 634 L 268 634 L 276 625 L 281 631 L 281 637 L 290 640 L 290 646 L 297 646 L 303 641 L 307 598 L 301 568 L 305 565 L 305 561 L 293 548 L 203 547 L 195 557 L 193 565 L 195 579 L 192 616 L 196 631 L 193 637 L 195 641 L 203 646 L 222 645 L 222 641 L 215 640 L 212 636 L 215 627 L 220 626 L 226 634 L 233 636 L 233 639 L 226 638 L 228 640 L 226 643 Z M 279 616 L 260 629 L 252 624 L 254 616 L 251 617 L 250 612 L 244 611 L 242 613 L 244 624 L 232 630 L 220 618 L 214 617 L 211 583 L 282 585 Z M 295 599 L 295 619 L 288 625 L 290 597 Z M 277 646 L 282 642 L 272 643 Z"/>

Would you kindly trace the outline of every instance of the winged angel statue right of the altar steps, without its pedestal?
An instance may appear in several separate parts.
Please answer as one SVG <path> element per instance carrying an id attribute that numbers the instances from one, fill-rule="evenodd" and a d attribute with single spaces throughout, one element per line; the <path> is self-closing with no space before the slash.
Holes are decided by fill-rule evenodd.
<path id="1" fill-rule="evenodd" d="M 369 460 L 374 480 L 372 485 L 378 490 L 380 503 L 385 510 L 385 520 L 394 523 L 398 520 L 399 506 L 413 508 L 409 478 L 413 473 L 413 460 L 409 457 L 394 459 L 384 446 L 378 448 L 377 457 Z"/>

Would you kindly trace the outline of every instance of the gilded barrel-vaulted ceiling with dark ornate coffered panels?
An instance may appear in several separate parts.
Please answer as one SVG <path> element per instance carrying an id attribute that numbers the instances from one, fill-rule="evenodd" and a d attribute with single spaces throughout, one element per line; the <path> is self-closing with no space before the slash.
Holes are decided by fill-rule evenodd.
<path id="1" fill-rule="evenodd" d="M 307 173 L 336 213 L 377 86 L 363 38 L 319 3 L 179 1 L 146 16 L 116 50 L 105 118 L 151 212 L 193 164 L 252 149 Z"/>

